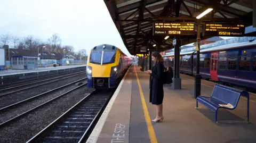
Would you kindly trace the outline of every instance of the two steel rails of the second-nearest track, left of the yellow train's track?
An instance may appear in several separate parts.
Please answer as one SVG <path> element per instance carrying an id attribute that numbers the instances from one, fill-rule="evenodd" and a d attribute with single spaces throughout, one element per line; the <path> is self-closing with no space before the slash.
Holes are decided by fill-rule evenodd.
<path id="1" fill-rule="evenodd" d="M 76 82 L 81 82 L 82 80 L 85 80 L 85 79 L 86 79 L 86 78 L 77 80 L 77 81 L 75 81 L 75 82 L 68 83 L 68 84 L 65 85 L 65 86 L 74 84 L 74 83 L 76 83 Z M 34 111 L 34 110 L 36 110 L 36 109 L 38 109 L 38 108 L 40 108 L 40 107 L 42 107 L 42 106 L 45 106 L 45 105 L 49 104 L 50 102 L 53 102 L 54 100 L 56 100 L 56 99 L 58 99 L 58 98 L 60 98 L 60 97 L 62 97 L 62 96 L 65 96 L 65 95 L 69 94 L 70 92 L 72 92 L 72 91 L 74 91 L 74 90 L 76 90 L 76 89 L 78 89 L 78 88 L 80 88 L 80 87 L 83 87 L 83 86 L 85 86 L 85 85 L 87 85 L 87 82 L 82 83 L 82 85 L 79 85 L 79 86 L 77 86 L 77 87 L 75 87 L 75 88 L 73 88 L 73 89 L 71 89 L 71 90 L 68 90 L 68 91 L 64 92 L 63 94 L 60 94 L 60 95 L 57 96 L 57 97 L 54 97 L 54 98 L 52 98 L 52 99 L 50 99 L 50 100 L 47 100 L 46 102 L 44 102 L 44 103 L 42 103 L 42 104 L 40 104 L 40 105 L 38 105 L 38 106 L 36 106 L 36 107 L 34 107 L 34 108 L 31 108 L 30 110 L 28 110 L 28 111 L 26 111 L 26 112 L 20 113 L 19 115 L 12 117 L 11 119 L 9 119 L 9 120 L 7 120 L 7 121 L 5 121 L 5 122 L 0 123 L 0 128 L 1 128 L 2 126 L 4 126 L 4 125 L 7 125 L 7 124 L 10 124 L 10 123 L 14 122 L 15 120 L 19 119 L 21 116 L 23 116 L 23 115 L 25 115 L 25 114 L 28 114 L 28 113 L 30 113 L 30 112 L 32 112 L 32 111 Z M 43 93 L 43 94 L 50 94 L 50 93 L 53 92 L 54 90 L 63 88 L 63 87 L 65 87 L 65 86 L 55 88 L 55 89 L 50 90 L 50 91 L 47 91 L 47 92 L 45 92 L 45 93 Z M 15 104 L 6 106 L 6 107 L 4 107 L 4 108 L 1 108 L 1 111 L 7 110 L 7 109 L 9 109 L 9 108 L 12 108 L 13 106 L 17 106 L 18 104 L 28 102 L 28 100 L 31 100 L 31 99 L 36 98 L 36 97 L 39 97 L 39 96 L 42 96 L 42 94 L 37 95 L 37 96 L 34 96 L 34 97 L 31 97 L 31 98 L 26 99 L 26 100 L 22 100 L 22 102 L 15 103 Z"/>

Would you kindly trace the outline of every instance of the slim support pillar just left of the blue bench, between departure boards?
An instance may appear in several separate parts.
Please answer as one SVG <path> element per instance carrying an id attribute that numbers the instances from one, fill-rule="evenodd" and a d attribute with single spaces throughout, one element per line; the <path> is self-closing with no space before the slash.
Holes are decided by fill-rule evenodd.
<path id="1" fill-rule="evenodd" d="M 196 76 L 195 76 L 195 90 L 194 98 L 196 99 L 201 95 L 201 74 L 200 74 L 200 33 L 201 33 L 201 22 L 197 21 L 197 45 L 196 45 Z"/>

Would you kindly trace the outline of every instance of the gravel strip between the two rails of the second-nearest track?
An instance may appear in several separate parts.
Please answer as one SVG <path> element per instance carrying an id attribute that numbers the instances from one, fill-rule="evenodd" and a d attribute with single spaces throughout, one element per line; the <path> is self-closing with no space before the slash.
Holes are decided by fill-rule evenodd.
<path id="1" fill-rule="evenodd" d="M 85 83 L 85 81 L 86 80 L 83 80 L 81 82 Z M 55 97 L 58 97 L 59 95 L 65 93 L 65 92 L 67 92 L 71 89 L 74 89 L 75 87 L 77 87 L 77 86 L 74 83 L 74 84 L 69 85 L 65 88 L 61 88 L 61 89 L 58 89 L 56 91 L 53 91 L 50 94 L 44 95 L 44 96 L 39 97 L 39 98 L 35 98 L 33 100 L 30 100 L 29 102 L 23 103 L 19 106 L 16 106 L 16 107 L 12 108 L 11 110 L 7 110 L 5 112 L 2 112 L 2 113 L 0 113 L 0 123 L 3 123 L 7 120 L 10 120 L 15 116 L 18 116 L 18 115 L 36 107 L 36 106 L 38 106 L 38 105 L 41 105 L 41 104 L 43 104 L 43 103 L 45 103 L 45 102 L 47 102 L 47 101 L 49 101 L 49 100 L 51 100 Z"/>

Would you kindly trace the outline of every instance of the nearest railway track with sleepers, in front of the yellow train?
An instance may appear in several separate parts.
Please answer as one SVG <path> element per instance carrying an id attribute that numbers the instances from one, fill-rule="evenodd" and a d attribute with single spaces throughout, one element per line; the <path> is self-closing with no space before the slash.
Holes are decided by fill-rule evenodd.
<path id="1" fill-rule="evenodd" d="M 94 90 L 27 143 L 85 141 L 113 93 Z"/>

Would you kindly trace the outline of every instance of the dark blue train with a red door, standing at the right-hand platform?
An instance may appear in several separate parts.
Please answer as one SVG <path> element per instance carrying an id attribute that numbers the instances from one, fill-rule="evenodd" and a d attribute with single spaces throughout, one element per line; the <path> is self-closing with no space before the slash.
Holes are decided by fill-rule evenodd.
<path id="1" fill-rule="evenodd" d="M 165 55 L 165 66 L 173 68 L 173 54 Z M 196 52 L 180 53 L 180 72 L 196 74 Z M 203 79 L 256 89 L 256 40 L 205 48 L 200 51 Z"/>

